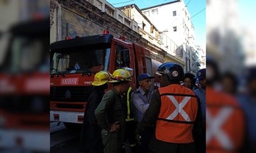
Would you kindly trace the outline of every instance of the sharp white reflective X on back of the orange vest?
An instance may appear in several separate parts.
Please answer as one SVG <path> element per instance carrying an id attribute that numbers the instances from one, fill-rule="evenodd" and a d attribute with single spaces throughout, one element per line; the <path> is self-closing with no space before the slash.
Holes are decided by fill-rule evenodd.
<path id="1" fill-rule="evenodd" d="M 167 96 L 173 103 L 173 105 L 176 107 L 176 109 L 166 118 L 169 120 L 173 120 L 175 117 L 177 117 L 177 115 L 180 113 L 180 115 L 182 115 L 182 117 L 188 121 L 191 122 L 191 119 L 189 118 L 188 113 L 186 113 L 182 108 L 188 103 L 189 99 L 191 97 L 185 97 L 180 104 L 178 103 L 178 101 L 173 97 L 173 96 Z"/>

